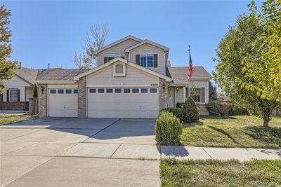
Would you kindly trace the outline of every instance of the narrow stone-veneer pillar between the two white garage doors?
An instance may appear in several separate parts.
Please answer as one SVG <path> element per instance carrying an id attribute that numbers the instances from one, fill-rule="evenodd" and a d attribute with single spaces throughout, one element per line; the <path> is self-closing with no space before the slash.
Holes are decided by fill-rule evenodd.
<path id="1" fill-rule="evenodd" d="M 86 118 L 86 76 L 78 81 L 78 118 Z"/>

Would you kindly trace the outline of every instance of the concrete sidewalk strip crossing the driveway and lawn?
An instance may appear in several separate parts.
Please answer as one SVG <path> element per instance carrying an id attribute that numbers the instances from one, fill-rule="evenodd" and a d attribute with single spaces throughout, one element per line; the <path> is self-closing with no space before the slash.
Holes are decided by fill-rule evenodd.
<path id="1" fill-rule="evenodd" d="M 119 158 L 133 160 L 184 159 L 281 159 L 281 149 L 211 148 L 193 146 L 155 146 L 100 142 L 1 142 L 2 155 L 58 156 L 81 158 Z M 15 147 L 15 148 L 13 148 Z"/>

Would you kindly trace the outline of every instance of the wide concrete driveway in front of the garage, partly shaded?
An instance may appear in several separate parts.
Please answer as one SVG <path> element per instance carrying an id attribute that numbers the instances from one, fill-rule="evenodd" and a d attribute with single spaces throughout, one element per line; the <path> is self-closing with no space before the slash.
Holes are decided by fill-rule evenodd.
<path id="1" fill-rule="evenodd" d="M 0 186 L 159 186 L 154 124 L 45 118 L 2 125 Z"/>

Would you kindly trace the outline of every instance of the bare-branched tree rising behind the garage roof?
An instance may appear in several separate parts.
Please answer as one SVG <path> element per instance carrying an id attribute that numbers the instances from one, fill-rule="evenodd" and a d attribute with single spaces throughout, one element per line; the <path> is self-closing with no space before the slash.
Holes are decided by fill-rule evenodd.
<path id="1" fill-rule="evenodd" d="M 97 57 L 93 53 L 105 46 L 109 29 L 105 24 L 96 24 L 91 27 L 90 32 L 86 34 L 84 41 L 84 52 L 75 53 L 73 55 L 73 62 L 79 69 L 90 69 L 98 65 Z"/>

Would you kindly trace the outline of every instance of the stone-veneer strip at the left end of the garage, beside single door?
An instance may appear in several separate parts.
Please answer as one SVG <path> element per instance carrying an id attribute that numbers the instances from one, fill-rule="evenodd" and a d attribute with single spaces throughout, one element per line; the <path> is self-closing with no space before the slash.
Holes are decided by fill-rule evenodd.
<path id="1" fill-rule="evenodd" d="M 42 92 L 42 88 L 44 91 Z M 46 84 L 39 84 L 39 117 L 46 118 L 47 117 L 47 85 Z"/>

